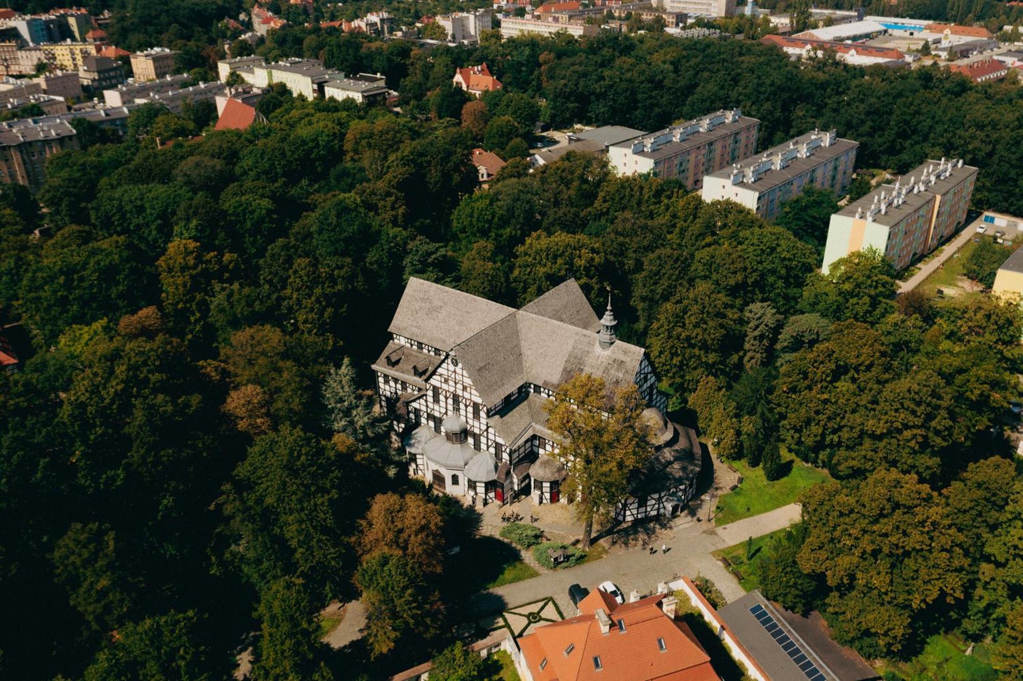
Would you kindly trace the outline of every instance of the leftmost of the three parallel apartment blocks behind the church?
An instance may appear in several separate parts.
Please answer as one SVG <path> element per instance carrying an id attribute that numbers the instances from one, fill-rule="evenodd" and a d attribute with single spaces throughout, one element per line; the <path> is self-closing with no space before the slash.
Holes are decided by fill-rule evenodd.
<path id="1" fill-rule="evenodd" d="M 608 156 L 619 175 L 652 173 L 700 189 L 705 175 L 753 155 L 759 131 L 757 119 L 721 109 L 614 144 Z"/>

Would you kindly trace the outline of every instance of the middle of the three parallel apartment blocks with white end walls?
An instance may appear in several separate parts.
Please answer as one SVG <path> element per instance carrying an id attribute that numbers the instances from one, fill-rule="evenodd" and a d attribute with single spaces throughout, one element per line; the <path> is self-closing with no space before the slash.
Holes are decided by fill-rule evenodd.
<path id="1" fill-rule="evenodd" d="M 852 182 L 858 142 L 814 131 L 704 177 L 705 201 L 730 199 L 765 220 L 806 187 L 841 196 Z"/>

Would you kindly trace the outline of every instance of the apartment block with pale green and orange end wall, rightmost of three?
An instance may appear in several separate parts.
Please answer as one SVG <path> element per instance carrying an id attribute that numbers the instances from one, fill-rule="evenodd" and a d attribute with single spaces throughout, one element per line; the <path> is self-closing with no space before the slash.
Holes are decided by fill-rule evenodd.
<path id="1" fill-rule="evenodd" d="M 903 270 L 966 220 L 977 169 L 963 160 L 927 161 L 831 217 L 824 271 L 854 251 L 875 247 Z"/>

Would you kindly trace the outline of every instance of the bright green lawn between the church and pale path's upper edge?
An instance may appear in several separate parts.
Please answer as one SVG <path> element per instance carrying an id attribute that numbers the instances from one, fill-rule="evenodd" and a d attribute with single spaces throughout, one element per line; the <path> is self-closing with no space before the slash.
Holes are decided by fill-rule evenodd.
<path id="1" fill-rule="evenodd" d="M 791 465 L 789 474 L 772 483 L 764 478 L 762 467 L 752 468 L 746 461 L 731 461 L 742 474 L 743 484 L 718 499 L 714 525 L 728 525 L 791 504 L 804 490 L 831 480 L 827 470 L 803 463 L 784 447 L 782 461 Z"/>

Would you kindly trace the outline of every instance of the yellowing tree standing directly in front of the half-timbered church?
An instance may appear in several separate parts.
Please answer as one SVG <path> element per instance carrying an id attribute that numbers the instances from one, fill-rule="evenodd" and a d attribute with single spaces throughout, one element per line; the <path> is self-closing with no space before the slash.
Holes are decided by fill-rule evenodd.
<path id="1" fill-rule="evenodd" d="M 635 385 L 608 394 L 603 378 L 579 374 L 548 403 L 547 427 L 561 439 L 558 458 L 568 469 L 562 491 L 574 499 L 583 523 L 582 548 L 589 549 L 593 523 L 609 520 L 627 496 L 628 481 L 653 455 L 640 419 Z"/>

